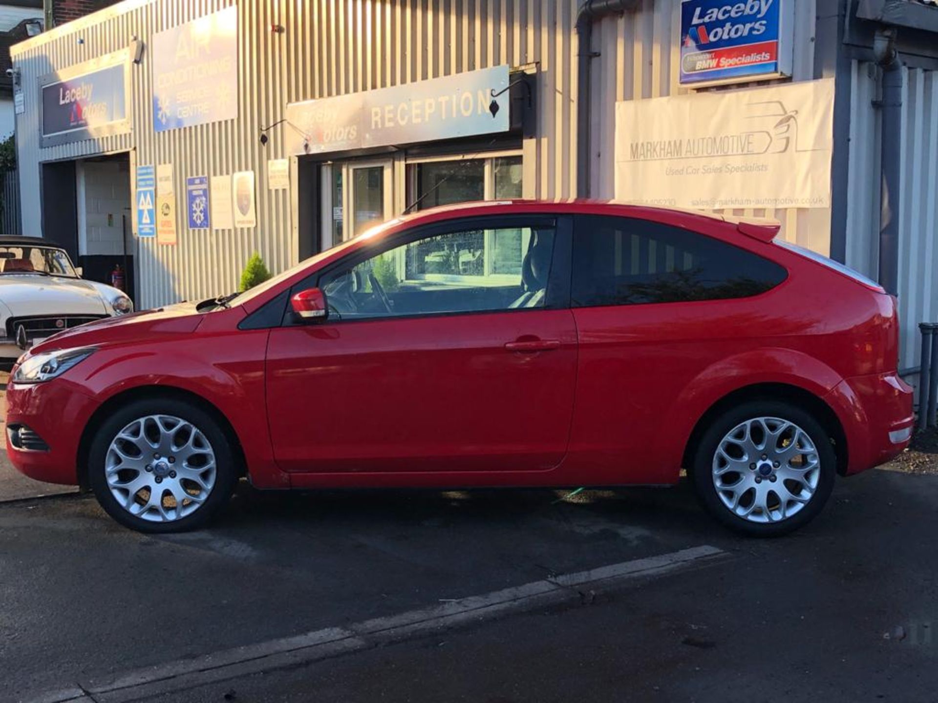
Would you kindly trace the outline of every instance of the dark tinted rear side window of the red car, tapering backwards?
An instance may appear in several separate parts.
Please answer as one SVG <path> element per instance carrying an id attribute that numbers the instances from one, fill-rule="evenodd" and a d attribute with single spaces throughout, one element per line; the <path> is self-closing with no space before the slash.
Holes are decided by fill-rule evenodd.
<path id="1" fill-rule="evenodd" d="M 745 249 L 659 222 L 582 216 L 575 227 L 572 307 L 745 298 L 788 275 Z"/>

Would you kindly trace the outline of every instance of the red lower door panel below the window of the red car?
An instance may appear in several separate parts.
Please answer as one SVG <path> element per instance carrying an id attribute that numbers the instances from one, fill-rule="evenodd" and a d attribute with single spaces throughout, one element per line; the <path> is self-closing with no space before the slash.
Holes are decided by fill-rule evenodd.
<path id="1" fill-rule="evenodd" d="M 506 350 L 535 339 L 559 346 Z M 280 409 L 277 461 L 325 473 L 549 471 L 567 454 L 576 373 L 569 310 L 275 329 L 267 401 Z M 320 411 L 310 426 L 311 403 Z"/>

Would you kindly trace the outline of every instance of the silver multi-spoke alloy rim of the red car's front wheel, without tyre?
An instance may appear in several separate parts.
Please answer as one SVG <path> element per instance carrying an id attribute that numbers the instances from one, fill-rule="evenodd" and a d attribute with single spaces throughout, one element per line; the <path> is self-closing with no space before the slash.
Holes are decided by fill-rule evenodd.
<path id="1" fill-rule="evenodd" d="M 117 504 L 150 522 L 174 522 L 202 507 L 217 476 L 204 433 L 174 415 L 146 415 L 111 441 L 105 478 Z"/>

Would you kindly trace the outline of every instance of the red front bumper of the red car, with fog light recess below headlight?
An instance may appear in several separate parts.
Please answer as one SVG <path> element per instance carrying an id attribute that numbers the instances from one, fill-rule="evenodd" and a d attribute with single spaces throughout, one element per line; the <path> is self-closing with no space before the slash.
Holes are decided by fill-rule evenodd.
<path id="1" fill-rule="evenodd" d="M 48 445 L 47 451 L 18 448 L 10 441 L 8 431 L 10 463 L 38 481 L 77 486 L 82 432 L 97 408 L 97 400 L 86 396 L 67 379 L 9 383 L 7 427 L 28 427 Z"/>

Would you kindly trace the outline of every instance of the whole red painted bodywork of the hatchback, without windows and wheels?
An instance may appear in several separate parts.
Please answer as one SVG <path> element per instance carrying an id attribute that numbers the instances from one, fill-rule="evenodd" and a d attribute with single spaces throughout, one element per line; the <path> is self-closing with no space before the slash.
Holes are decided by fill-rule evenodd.
<path id="1" fill-rule="evenodd" d="M 506 214 L 651 219 L 784 266 L 732 300 L 239 329 L 310 274 L 416 226 Z M 8 425 L 49 452 L 14 465 L 74 484 L 96 411 L 125 394 L 199 396 L 231 426 L 256 486 L 673 484 L 704 414 L 740 389 L 800 389 L 833 411 L 848 473 L 896 456 L 913 423 L 896 373 L 895 301 L 772 244 L 777 226 L 598 202 L 450 206 L 325 252 L 241 305 L 167 307 L 69 330 L 33 353 L 95 346 L 62 377 L 10 383 Z M 574 235 L 575 242 L 575 235 Z M 512 346 L 513 345 L 513 346 Z"/>

